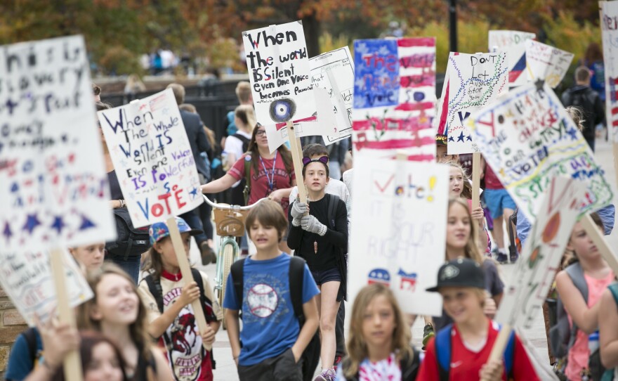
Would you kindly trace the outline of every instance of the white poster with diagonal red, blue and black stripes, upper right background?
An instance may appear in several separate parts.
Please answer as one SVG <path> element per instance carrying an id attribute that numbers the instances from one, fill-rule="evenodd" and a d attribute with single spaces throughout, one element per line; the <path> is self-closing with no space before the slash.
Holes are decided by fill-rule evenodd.
<path id="1" fill-rule="evenodd" d="M 534 39 L 534 33 L 518 30 L 490 30 L 489 51 L 505 51 L 508 62 L 508 84 L 511 87 L 521 86 L 527 82 L 526 41 Z"/>

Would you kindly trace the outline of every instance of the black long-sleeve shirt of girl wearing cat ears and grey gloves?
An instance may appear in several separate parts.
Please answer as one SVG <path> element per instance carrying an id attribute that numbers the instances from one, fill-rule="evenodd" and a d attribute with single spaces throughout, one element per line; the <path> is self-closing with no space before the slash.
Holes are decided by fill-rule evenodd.
<path id="1" fill-rule="evenodd" d="M 343 252 L 348 252 L 348 212 L 346 203 L 341 199 L 337 200 L 334 227 L 328 221 L 328 199 L 323 197 L 321 200 L 312 201 L 309 204 L 309 214 L 317 218 L 322 224 L 327 226 L 324 236 L 303 231 L 301 226 L 291 224 L 291 205 L 289 207 L 289 235 L 287 245 L 294 249 L 294 254 L 303 257 L 311 271 L 324 271 L 337 267 L 337 256 Z M 315 245 L 317 243 L 317 254 Z"/>

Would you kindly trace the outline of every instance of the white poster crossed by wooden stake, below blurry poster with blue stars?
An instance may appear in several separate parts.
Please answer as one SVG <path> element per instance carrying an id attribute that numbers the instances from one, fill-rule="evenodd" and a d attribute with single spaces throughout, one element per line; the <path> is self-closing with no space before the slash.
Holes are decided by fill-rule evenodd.
<path id="1" fill-rule="evenodd" d="M 63 251 L 65 284 L 70 306 L 79 306 L 93 297 L 75 260 Z M 0 252 L 0 285 L 11 298 L 28 325 L 34 326 L 35 314 L 47 321 L 56 314 L 55 286 L 49 252 Z"/>

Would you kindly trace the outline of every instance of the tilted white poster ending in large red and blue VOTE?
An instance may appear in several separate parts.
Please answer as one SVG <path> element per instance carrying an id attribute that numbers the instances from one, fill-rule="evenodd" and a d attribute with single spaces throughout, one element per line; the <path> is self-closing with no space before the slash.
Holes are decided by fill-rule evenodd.
<path id="1" fill-rule="evenodd" d="M 204 202 L 171 89 L 98 116 L 133 226 L 165 221 Z"/>

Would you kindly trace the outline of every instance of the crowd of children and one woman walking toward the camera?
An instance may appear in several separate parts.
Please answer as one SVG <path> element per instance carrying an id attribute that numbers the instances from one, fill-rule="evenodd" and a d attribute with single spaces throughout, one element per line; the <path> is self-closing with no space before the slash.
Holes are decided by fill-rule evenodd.
<path id="1" fill-rule="evenodd" d="M 351 189 L 330 178 L 328 150 L 313 143 L 303 150 L 301 183 L 308 200 L 301 202 L 289 151 L 270 153 L 265 129 L 254 125 L 250 106 L 237 108 L 235 117 L 242 134 L 228 137 L 232 171 L 202 191 L 221 191 L 244 179 L 253 187 L 249 198 L 271 200 L 246 217 L 256 254 L 233 264 L 223 306 L 202 271 L 192 269 L 195 281 L 185 284 L 166 223 L 150 226 L 151 247 L 138 284 L 133 274 L 104 263 L 104 243 L 70 248 L 94 292 L 75 311 L 79 329 L 37 322 L 15 342 L 6 380 L 63 380 L 63 359 L 75 349 L 86 381 L 213 380 L 213 353 L 206 348 L 213 346 L 223 318 L 240 380 L 540 379 L 514 332 L 502 359 L 490 360 L 501 330 L 492 317 L 504 292 L 497 262 L 518 260 L 518 252 L 506 250 L 502 235 L 502 224 L 511 224 L 516 206 L 490 167 L 482 171 L 487 216 L 482 207 L 472 207 L 466 169 L 437 136 L 437 159 L 449 165 L 450 198 L 445 264 L 437 285 L 427 291 L 440 293 L 443 309 L 442 316 L 426 317 L 423 349 L 412 346 L 409 319 L 393 292 L 378 284 L 356 295 L 346 343 Z M 246 148 L 240 147 L 243 140 Z M 604 231 L 598 215 L 591 216 Z M 487 228 L 488 219 L 493 229 Z M 202 232 L 180 217 L 176 225 L 188 255 L 192 235 Z M 579 222 L 565 257 L 555 277 L 565 328 L 560 319 L 547 327 L 555 371 L 567 380 L 611 380 L 618 367 L 615 275 Z M 206 317 L 204 332 L 195 318 L 196 300 Z"/>

